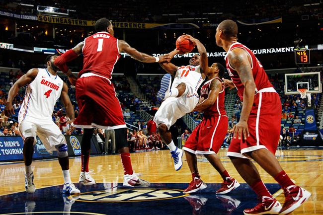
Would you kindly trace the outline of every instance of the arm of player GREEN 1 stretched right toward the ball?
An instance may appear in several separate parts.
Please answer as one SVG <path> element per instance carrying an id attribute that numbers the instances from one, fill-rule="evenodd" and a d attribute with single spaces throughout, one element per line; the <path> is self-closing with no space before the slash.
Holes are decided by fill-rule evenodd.
<path id="1" fill-rule="evenodd" d="M 164 61 L 169 61 L 168 55 L 163 55 L 161 57 L 153 57 L 151 55 L 147 55 L 143 52 L 137 51 L 137 49 L 132 48 L 126 41 L 118 40 L 118 46 L 120 52 L 125 52 L 130 55 L 133 59 L 144 62 L 144 63 L 161 63 Z"/>

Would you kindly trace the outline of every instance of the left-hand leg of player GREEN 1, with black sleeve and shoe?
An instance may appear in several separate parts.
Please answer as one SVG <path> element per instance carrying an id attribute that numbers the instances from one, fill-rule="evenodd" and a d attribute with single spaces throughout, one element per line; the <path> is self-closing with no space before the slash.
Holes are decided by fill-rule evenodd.
<path id="1" fill-rule="evenodd" d="M 88 171 L 88 162 L 91 151 L 91 138 L 94 129 L 83 129 L 83 136 L 81 139 L 81 173 L 79 182 L 84 185 L 95 184 L 95 180 L 90 176 Z"/>

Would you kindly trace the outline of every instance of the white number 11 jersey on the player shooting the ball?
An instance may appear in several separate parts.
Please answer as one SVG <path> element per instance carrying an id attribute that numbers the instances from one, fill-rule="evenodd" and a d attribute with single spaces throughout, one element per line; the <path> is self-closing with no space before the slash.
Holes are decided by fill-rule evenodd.
<path id="1" fill-rule="evenodd" d="M 176 87 L 183 82 L 196 92 L 203 81 L 204 79 L 201 75 L 200 66 L 182 66 L 178 67 L 171 88 Z"/>

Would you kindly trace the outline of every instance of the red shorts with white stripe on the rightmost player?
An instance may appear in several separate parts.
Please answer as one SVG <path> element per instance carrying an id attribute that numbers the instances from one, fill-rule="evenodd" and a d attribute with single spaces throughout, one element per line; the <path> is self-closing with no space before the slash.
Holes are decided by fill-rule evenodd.
<path id="1" fill-rule="evenodd" d="M 278 93 L 256 93 L 247 122 L 250 137 L 246 140 L 233 138 L 227 156 L 246 158 L 243 153 L 260 148 L 267 148 L 275 154 L 280 136 L 281 111 Z"/>

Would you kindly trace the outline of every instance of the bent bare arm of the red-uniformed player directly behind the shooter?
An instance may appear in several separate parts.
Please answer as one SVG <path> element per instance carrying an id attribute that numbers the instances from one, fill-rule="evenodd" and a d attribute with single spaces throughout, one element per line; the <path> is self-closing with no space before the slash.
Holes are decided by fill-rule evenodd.
<path id="1" fill-rule="evenodd" d="M 202 103 L 196 105 L 192 112 L 205 110 L 206 108 L 211 107 L 214 104 L 214 102 L 218 98 L 220 91 L 222 90 L 222 84 L 218 79 L 213 79 L 210 88 L 211 90 L 207 99 L 205 99 L 204 101 L 203 99 L 200 99 L 200 102 L 202 101 Z"/>

